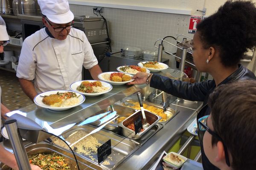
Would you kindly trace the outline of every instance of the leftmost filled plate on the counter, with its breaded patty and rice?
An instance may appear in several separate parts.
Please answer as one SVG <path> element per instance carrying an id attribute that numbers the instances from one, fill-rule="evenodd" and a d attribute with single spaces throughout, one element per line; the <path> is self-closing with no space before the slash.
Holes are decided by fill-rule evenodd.
<path id="1" fill-rule="evenodd" d="M 74 91 L 46 91 L 34 98 L 36 105 L 53 111 L 65 111 L 81 105 L 85 100 L 84 95 Z"/>

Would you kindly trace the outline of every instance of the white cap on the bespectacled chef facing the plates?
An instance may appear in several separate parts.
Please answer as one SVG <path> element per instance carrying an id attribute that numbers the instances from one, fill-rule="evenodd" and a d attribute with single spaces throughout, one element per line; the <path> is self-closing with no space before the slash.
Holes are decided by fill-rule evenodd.
<path id="1" fill-rule="evenodd" d="M 52 23 L 65 24 L 74 19 L 67 0 L 38 0 L 41 13 Z"/>

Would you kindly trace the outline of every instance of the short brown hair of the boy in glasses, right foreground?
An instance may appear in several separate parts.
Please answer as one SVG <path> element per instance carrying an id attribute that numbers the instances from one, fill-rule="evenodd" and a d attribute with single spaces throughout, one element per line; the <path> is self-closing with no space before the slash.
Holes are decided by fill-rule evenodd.
<path id="1" fill-rule="evenodd" d="M 256 81 L 221 85 L 209 96 L 213 130 L 232 156 L 234 170 L 256 168 Z M 218 139 L 212 136 L 212 145 Z"/>

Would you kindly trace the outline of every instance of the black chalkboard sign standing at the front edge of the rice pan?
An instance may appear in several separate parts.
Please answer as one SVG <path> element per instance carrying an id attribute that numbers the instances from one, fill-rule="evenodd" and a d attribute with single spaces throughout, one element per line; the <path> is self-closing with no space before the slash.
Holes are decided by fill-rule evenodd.
<path id="1" fill-rule="evenodd" d="M 108 156 L 111 154 L 111 151 L 111 139 L 109 139 L 106 143 L 98 147 L 98 163 L 105 161 L 105 159 L 107 159 Z"/>

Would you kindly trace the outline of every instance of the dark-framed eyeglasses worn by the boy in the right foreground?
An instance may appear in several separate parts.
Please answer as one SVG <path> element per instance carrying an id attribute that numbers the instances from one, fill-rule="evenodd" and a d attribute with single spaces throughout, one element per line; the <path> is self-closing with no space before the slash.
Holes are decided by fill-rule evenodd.
<path id="1" fill-rule="evenodd" d="M 200 119 L 198 119 L 199 129 L 202 130 L 202 131 L 207 130 L 207 132 L 209 132 L 212 136 L 214 136 L 215 138 L 217 138 L 219 141 L 221 141 L 223 143 L 226 163 L 227 163 L 227 166 L 230 167 L 230 160 L 229 160 L 229 157 L 228 157 L 227 147 L 224 144 L 224 142 L 221 139 L 221 137 L 218 136 L 218 134 L 215 133 L 214 131 L 210 130 L 210 128 L 207 126 L 207 118 L 208 117 L 209 117 L 209 115 L 201 117 Z"/>

